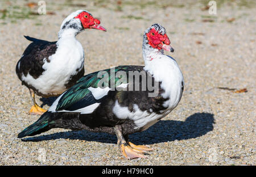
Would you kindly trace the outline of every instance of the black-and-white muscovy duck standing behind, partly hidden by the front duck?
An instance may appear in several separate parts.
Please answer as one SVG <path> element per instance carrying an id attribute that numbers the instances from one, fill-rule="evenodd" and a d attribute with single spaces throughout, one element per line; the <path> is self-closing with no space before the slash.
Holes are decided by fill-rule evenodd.
<path id="1" fill-rule="evenodd" d="M 16 74 L 22 85 L 30 90 L 34 106 L 31 114 L 46 112 L 35 102 L 35 94 L 45 98 L 59 96 L 75 85 L 84 75 L 84 49 L 76 35 L 84 29 L 106 31 L 86 10 L 77 10 L 64 19 L 59 31 L 59 40 L 49 42 L 24 36 L 32 41 L 16 65 Z"/>

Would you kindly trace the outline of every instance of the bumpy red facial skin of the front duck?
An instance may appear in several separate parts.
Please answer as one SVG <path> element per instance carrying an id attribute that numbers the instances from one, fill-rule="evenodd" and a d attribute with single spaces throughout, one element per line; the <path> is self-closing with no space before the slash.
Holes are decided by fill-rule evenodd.
<path id="1" fill-rule="evenodd" d="M 155 28 L 152 28 L 150 32 L 146 33 L 148 44 L 156 49 L 164 49 L 163 45 L 170 45 L 170 40 L 166 34 L 160 35 Z"/>

